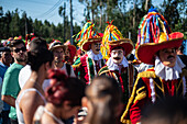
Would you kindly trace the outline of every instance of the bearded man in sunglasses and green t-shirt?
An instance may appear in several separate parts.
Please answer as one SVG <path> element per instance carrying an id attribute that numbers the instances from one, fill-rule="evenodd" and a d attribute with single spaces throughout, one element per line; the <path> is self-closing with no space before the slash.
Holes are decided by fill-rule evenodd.
<path id="1" fill-rule="evenodd" d="M 26 64 L 26 47 L 22 40 L 14 40 L 10 43 L 14 63 L 8 68 L 2 84 L 2 100 L 11 105 L 9 117 L 11 124 L 18 124 L 15 112 L 15 99 L 20 92 L 19 72 Z"/>

